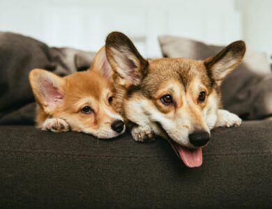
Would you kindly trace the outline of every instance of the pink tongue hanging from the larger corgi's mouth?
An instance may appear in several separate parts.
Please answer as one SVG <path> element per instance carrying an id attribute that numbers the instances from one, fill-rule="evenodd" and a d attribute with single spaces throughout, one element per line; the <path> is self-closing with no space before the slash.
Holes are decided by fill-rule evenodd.
<path id="1" fill-rule="evenodd" d="M 187 167 L 193 168 L 202 165 L 202 148 L 190 150 L 179 145 L 176 145 L 176 148 L 179 152 L 179 156 Z"/>

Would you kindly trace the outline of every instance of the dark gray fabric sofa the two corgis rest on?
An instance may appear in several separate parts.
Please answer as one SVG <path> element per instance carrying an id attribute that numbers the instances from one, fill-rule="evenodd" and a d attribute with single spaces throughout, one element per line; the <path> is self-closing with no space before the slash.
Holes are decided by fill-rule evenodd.
<path id="1" fill-rule="evenodd" d="M 0 32 L 0 208 L 272 208 L 269 120 L 213 130 L 195 169 L 164 139 L 36 130 L 29 70 L 68 75 L 92 58 Z"/>

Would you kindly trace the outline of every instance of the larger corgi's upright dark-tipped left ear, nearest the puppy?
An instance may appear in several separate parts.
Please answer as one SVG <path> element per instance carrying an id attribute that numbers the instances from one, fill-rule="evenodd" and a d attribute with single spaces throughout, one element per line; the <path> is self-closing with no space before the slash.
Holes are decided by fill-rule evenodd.
<path id="1" fill-rule="evenodd" d="M 137 86 L 146 74 L 148 61 L 142 58 L 133 42 L 123 33 L 109 33 L 106 39 L 106 54 L 119 84 Z"/>

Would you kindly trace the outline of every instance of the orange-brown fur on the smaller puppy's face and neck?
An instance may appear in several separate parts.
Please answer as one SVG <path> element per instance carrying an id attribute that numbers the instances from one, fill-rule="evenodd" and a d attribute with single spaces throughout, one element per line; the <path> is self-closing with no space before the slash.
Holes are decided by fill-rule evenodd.
<path id="1" fill-rule="evenodd" d="M 35 69 L 31 72 L 30 79 L 33 78 L 33 73 L 50 73 L 41 72 L 39 69 Z M 99 72 L 95 70 L 87 70 L 85 72 L 75 72 L 72 75 L 63 77 L 65 85 L 62 86 L 63 91 L 66 92 L 63 98 L 63 104 L 56 107 L 54 111 L 46 109 L 46 104 L 43 102 L 43 98 L 37 95 L 37 102 L 40 107 L 37 112 L 37 127 L 41 127 L 45 118 L 47 117 L 58 117 L 66 118 L 68 116 L 75 117 L 76 123 L 83 123 L 85 125 L 90 125 L 94 129 L 103 123 L 101 118 L 105 117 L 103 110 L 99 108 L 100 102 L 103 102 L 106 106 L 109 106 L 107 98 L 103 98 L 103 91 L 107 90 L 112 94 L 112 85 L 107 82 Z M 33 88 L 38 88 L 35 83 L 33 83 Z M 86 114 L 80 114 L 80 109 L 84 106 L 85 102 L 78 104 L 77 101 L 83 100 L 84 98 L 91 98 L 89 102 L 93 102 L 91 107 L 94 109 L 95 114 L 92 116 Z M 88 102 L 86 103 L 88 104 Z M 110 107 L 112 109 L 112 107 Z M 75 114 L 75 116 L 73 116 Z"/>

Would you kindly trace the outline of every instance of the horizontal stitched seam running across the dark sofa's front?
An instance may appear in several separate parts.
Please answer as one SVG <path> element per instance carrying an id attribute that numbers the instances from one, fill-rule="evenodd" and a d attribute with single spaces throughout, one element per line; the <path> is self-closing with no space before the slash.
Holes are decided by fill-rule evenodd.
<path id="1" fill-rule="evenodd" d="M 56 151 L 52 150 L 46 150 L 46 151 L 35 151 L 35 150 L 0 150 L 0 156 L 4 155 L 16 155 L 16 154 L 21 154 L 21 155 L 32 155 L 32 156 L 51 156 L 51 157 L 92 157 L 92 158 L 132 158 L 132 159 L 142 159 L 142 158 L 165 158 L 165 157 L 160 157 L 160 156 L 100 156 L 100 155 L 88 155 L 88 154 L 82 154 L 82 153 L 59 153 Z M 269 156 L 272 155 L 272 152 L 263 152 L 263 153 L 222 153 L 218 155 L 204 155 L 205 157 L 225 157 L 225 156 Z"/>

